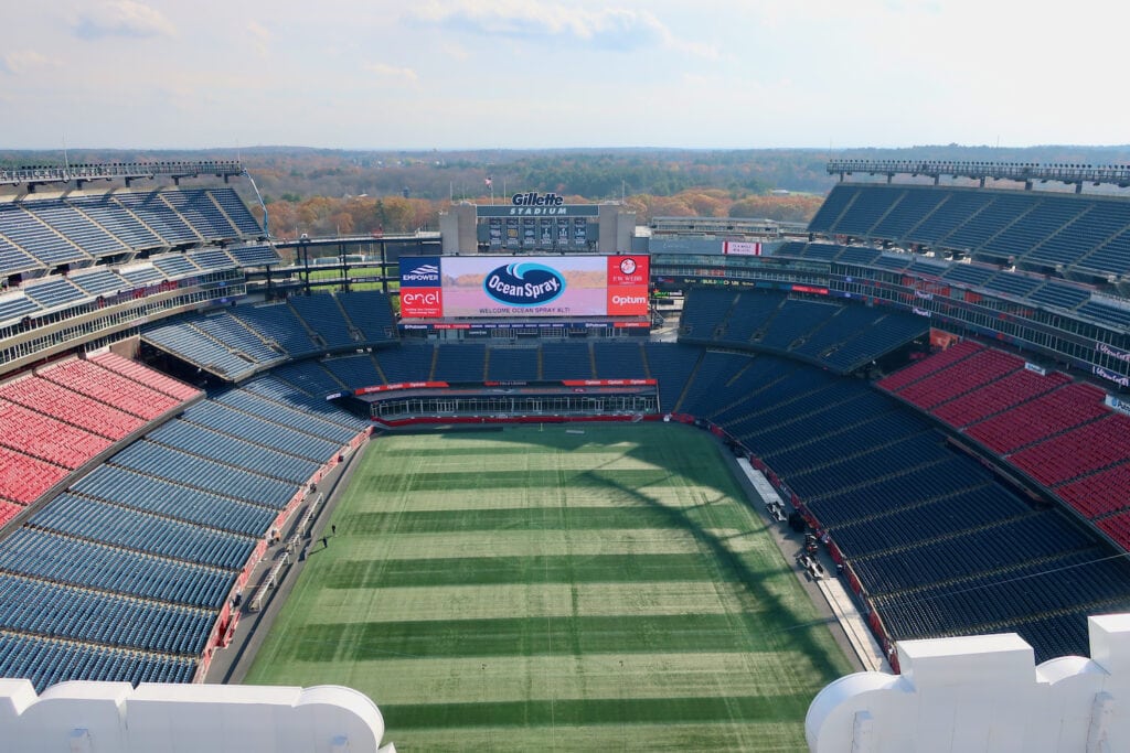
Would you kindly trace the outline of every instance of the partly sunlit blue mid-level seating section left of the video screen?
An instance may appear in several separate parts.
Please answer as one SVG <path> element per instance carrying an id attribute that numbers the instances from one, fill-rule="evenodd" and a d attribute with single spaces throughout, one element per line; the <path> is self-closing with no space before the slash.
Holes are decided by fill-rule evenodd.
<path id="1" fill-rule="evenodd" d="M 296 358 L 397 339 L 388 296 L 356 291 L 190 314 L 142 329 L 142 340 L 232 380 Z"/>

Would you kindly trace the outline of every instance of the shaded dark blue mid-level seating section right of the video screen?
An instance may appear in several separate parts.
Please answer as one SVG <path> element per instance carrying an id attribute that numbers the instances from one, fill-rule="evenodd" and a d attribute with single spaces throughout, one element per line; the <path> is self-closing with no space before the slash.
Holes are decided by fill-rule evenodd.
<path id="1" fill-rule="evenodd" d="M 776 291 L 694 288 L 687 299 L 680 336 L 688 342 L 785 353 L 840 374 L 929 330 L 913 314 Z"/>

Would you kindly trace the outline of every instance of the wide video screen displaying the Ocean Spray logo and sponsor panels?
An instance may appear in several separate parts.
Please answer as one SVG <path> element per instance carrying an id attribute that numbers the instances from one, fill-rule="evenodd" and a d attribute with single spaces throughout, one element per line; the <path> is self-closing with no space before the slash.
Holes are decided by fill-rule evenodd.
<path id="1" fill-rule="evenodd" d="M 405 318 L 646 316 L 649 257 L 401 256 Z"/>

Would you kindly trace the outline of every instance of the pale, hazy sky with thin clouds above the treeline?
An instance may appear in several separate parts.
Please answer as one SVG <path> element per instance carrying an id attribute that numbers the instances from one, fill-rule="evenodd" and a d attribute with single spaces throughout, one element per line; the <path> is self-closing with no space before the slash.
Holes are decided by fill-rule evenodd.
<path id="1" fill-rule="evenodd" d="M 0 149 L 1123 145 L 1109 0 L 0 0 Z"/>

